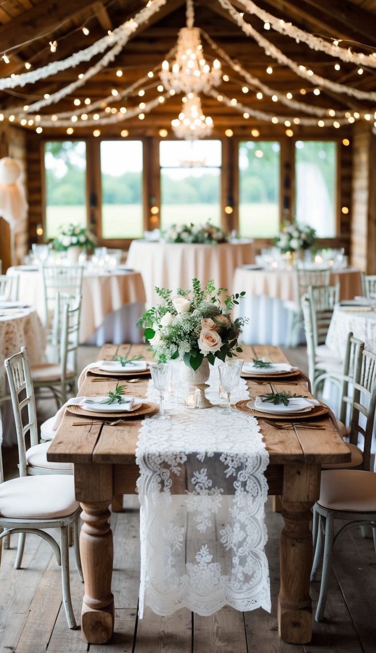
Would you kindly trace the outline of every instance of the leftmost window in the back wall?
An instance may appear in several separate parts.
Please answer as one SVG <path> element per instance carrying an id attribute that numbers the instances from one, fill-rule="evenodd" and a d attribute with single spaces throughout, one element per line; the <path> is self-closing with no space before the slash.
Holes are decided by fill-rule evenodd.
<path id="1" fill-rule="evenodd" d="M 86 143 L 50 141 L 44 145 L 46 238 L 59 227 L 86 225 Z"/>

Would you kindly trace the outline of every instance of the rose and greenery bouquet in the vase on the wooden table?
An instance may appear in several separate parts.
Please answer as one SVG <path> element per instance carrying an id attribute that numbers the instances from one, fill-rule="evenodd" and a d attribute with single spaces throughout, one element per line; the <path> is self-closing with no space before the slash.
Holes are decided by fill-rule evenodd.
<path id="1" fill-rule="evenodd" d="M 138 325 L 145 327 L 145 339 L 158 362 L 181 357 L 188 367 L 198 370 L 204 357 L 213 365 L 215 358 L 225 361 L 243 351 L 238 338 L 247 318 L 232 320 L 230 310 L 245 293 L 225 296 L 222 308 L 221 296 L 227 289 L 215 289 L 213 281 L 202 289 L 200 281 L 193 279 L 193 291 L 179 289 L 175 297 L 166 288 L 155 290 L 161 304 L 146 311 Z"/>

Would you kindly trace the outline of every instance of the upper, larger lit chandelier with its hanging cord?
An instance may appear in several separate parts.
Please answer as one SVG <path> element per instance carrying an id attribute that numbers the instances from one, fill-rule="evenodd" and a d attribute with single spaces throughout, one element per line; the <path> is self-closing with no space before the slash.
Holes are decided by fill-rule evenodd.
<path id="1" fill-rule="evenodd" d="M 210 65 L 204 57 L 200 40 L 200 30 L 193 27 L 193 0 L 187 0 L 187 27 L 182 27 L 178 35 L 176 58 L 170 63 L 163 61 L 159 76 L 164 88 L 176 93 L 200 93 L 208 91 L 221 83 L 221 62 L 218 59 Z"/>

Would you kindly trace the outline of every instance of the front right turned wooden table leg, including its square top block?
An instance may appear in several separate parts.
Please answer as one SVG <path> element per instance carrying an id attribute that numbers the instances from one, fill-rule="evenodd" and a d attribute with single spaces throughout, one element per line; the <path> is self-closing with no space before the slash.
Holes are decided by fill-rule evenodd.
<path id="1" fill-rule="evenodd" d="M 306 644 L 312 636 L 309 573 L 312 564 L 311 507 L 319 498 L 320 465 L 286 465 L 283 477 L 279 559 L 278 631 L 283 641 Z"/>

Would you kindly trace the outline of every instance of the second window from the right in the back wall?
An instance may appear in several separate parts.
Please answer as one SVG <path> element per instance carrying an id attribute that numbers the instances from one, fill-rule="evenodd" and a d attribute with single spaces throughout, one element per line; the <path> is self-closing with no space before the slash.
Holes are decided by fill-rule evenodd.
<path id="1" fill-rule="evenodd" d="M 239 144 L 239 233 L 270 238 L 279 231 L 278 142 Z"/>

